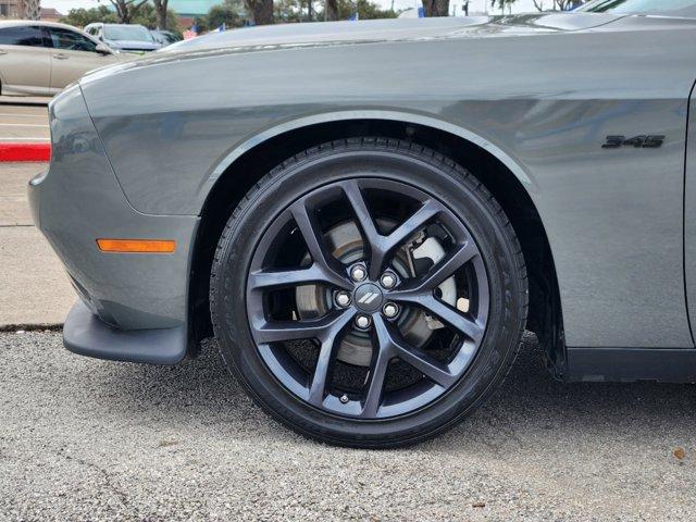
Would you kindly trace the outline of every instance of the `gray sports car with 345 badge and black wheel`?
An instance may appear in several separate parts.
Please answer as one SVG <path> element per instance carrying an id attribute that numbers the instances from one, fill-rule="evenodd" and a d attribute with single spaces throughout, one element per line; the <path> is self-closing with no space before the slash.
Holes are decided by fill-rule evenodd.
<path id="1" fill-rule="evenodd" d="M 89 74 L 29 190 L 65 346 L 173 364 L 214 334 L 273 417 L 360 447 L 470 414 L 525 328 L 559 380 L 696 382 L 695 51 L 696 0 L 602 0 Z"/>

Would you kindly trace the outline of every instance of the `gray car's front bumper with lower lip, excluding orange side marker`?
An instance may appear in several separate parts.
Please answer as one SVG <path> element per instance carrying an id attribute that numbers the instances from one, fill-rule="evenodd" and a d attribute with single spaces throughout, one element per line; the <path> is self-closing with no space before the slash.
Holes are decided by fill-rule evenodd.
<path id="1" fill-rule="evenodd" d="M 55 98 L 50 113 L 51 164 L 29 182 L 29 204 L 83 301 L 65 322 L 65 345 L 99 358 L 177 362 L 189 345 L 198 216 L 144 214 L 128 203 L 78 86 Z M 97 247 L 100 237 L 173 239 L 176 249 L 107 253 Z"/>

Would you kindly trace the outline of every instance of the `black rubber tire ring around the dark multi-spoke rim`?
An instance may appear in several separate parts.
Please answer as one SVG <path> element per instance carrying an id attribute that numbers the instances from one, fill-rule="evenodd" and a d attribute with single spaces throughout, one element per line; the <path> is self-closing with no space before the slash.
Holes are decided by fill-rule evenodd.
<path id="1" fill-rule="evenodd" d="M 257 245 L 281 210 L 321 185 L 364 175 L 369 165 L 378 165 L 370 169 L 370 176 L 425 190 L 465 223 L 486 266 L 489 308 L 477 351 L 447 393 L 408 414 L 362 420 L 310 406 L 275 378 L 251 332 L 246 287 Z M 224 228 L 210 282 L 211 316 L 220 351 L 251 398 L 306 436 L 363 448 L 420 443 L 471 414 L 508 374 L 521 344 L 527 301 L 520 245 L 490 192 L 450 159 L 412 142 L 385 138 L 324 144 L 290 158 L 260 179 Z"/>

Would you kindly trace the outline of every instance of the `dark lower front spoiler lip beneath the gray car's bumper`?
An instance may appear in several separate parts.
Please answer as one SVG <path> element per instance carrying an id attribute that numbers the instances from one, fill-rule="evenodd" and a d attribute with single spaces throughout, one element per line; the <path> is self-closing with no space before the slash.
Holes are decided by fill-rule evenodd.
<path id="1" fill-rule="evenodd" d="M 112 361 L 176 364 L 186 356 L 184 326 L 163 330 L 117 330 L 100 321 L 85 303 L 77 302 L 63 326 L 65 348 L 80 356 Z"/>

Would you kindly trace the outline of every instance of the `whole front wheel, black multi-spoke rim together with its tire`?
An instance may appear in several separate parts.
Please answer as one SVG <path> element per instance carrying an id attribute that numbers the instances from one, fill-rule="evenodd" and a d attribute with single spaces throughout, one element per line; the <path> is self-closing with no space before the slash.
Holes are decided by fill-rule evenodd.
<path id="1" fill-rule="evenodd" d="M 355 139 L 284 162 L 241 201 L 211 312 L 266 411 L 325 442 L 389 447 L 453 425 L 502 380 L 526 291 L 512 227 L 471 174 Z"/>

